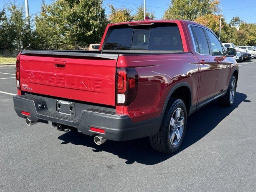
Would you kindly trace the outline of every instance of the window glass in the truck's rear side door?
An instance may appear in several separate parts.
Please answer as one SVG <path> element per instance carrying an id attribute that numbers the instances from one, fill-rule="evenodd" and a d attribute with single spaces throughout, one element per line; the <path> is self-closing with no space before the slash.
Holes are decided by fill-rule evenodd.
<path id="1" fill-rule="evenodd" d="M 192 30 L 193 29 L 194 29 L 194 34 L 196 35 L 194 39 L 197 40 L 199 53 L 203 55 L 210 55 L 210 50 L 208 47 L 208 43 L 207 43 L 203 28 L 192 26 Z"/>

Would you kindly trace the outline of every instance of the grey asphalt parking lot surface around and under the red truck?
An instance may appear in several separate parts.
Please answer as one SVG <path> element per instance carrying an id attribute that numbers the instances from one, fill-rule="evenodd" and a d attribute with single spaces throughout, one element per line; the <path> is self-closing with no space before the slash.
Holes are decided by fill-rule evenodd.
<path id="1" fill-rule="evenodd" d="M 0 191 L 254 192 L 256 60 L 239 65 L 234 105 L 214 101 L 192 114 L 173 155 L 154 151 L 148 138 L 96 146 L 51 124 L 26 126 L 13 108 L 15 67 L 0 67 Z"/>

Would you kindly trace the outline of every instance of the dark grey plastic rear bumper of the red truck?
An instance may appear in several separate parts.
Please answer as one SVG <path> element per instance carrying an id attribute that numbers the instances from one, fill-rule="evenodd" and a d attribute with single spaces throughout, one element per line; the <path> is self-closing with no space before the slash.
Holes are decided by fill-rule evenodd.
<path id="1" fill-rule="evenodd" d="M 76 116 L 68 116 L 56 112 L 56 99 L 33 94 L 14 96 L 14 109 L 18 116 L 27 118 L 22 111 L 30 113 L 30 120 L 34 122 L 55 122 L 77 128 L 83 134 L 115 141 L 132 140 L 154 135 L 158 132 L 161 117 L 141 122 L 132 122 L 129 116 L 116 114 L 113 108 L 99 107 L 75 102 Z M 39 109 L 38 104 L 45 104 L 46 108 Z M 105 134 L 92 132 L 90 127 L 105 130 Z"/>

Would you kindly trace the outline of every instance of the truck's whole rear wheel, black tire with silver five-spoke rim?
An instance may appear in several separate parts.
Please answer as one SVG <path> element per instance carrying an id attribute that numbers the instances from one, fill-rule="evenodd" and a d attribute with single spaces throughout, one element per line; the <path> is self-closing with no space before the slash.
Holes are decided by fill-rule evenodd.
<path id="1" fill-rule="evenodd" d="M 150 136 L 152 147 L 163 153 L 171 154 L 180 148 L 186 132 L 187 112 L 181 99 L 171 98 L 156 135 Z"/>

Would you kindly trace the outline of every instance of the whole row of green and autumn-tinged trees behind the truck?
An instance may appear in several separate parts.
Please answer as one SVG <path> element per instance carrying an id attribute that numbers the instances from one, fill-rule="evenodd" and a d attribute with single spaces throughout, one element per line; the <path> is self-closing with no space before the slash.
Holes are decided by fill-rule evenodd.
<path id="1" fill-rule="evenodd" d="M 35 20 L 31 19 L 30 30 L 24 6 L 11 4 L 0 11 L 0 53 L 12 56 L 21 49 L 84 50 L 88 44 L 100 42 L 109 22 L 144 20 L 142 5 L 134 15 L 125 7 L 109 7 L 108 20 L 102 0 L 56 0 L 50 5 L 43 1 L 40 13 Z M 219 36 L 218 12 L 218 0 L 171 0 L 163 18 L 194 20 Z M 149 10 L 146 16 L 155 19 L 154 12 Z M 235 45 L 256 45 L 256 24 L 243 22 L 238 16 L 227 24 L 222 18 L 221 40 Z"/>

